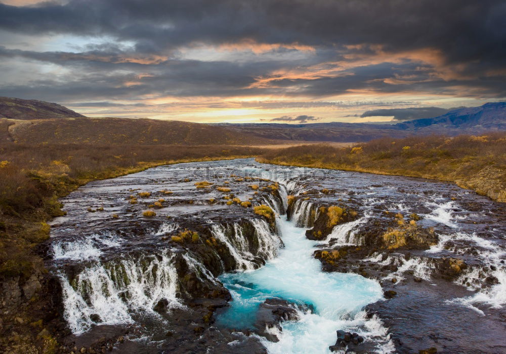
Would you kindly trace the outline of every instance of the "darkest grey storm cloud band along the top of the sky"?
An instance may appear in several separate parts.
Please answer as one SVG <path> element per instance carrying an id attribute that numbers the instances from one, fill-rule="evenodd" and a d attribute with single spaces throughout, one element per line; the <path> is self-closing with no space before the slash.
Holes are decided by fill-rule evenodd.
<path id="1" fill-rule="evenodd" d="M 108 34 L 148 52 L 190 42 L 439 48 L 448 62 L 502 67 L 501 0 L 71 0 L 36 7 L 0 5 L 0 28 L 31 34 Z"/>

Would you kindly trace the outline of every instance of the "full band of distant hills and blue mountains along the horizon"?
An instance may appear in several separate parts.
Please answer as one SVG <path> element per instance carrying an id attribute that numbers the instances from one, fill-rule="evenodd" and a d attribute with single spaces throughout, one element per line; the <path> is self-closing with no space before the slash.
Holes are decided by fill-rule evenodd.
<path id="1" fill-rule="evenodd" d="M 479 134 L 506 130 L 506 102 L 459 108 L 397 124 L 201 124 L 129 118 L 88 118 L 39 100 L 0 97 L 0 141 L 19 143 L 266 145 L 290 141 L 360 142 L 391 136 Z"/>

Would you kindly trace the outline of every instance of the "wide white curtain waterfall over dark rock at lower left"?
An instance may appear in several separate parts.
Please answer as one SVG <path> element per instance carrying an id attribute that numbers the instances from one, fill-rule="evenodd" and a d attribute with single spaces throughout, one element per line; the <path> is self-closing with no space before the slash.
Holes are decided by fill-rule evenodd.
<path id="1" fill-rule="evenodd" d="M 176 297 L 178 275 L 173 256 L 125 258 L 105 264 L 95 263 L 74 279 L 58 274 L 63 292 L 64 317 L 74 334 L 93 325 L 93 316 L 101 324 L 132 323 L 132 312 L 159 316 L 153 311 L 161 299 L 170 307 L 181 307 Z"/>

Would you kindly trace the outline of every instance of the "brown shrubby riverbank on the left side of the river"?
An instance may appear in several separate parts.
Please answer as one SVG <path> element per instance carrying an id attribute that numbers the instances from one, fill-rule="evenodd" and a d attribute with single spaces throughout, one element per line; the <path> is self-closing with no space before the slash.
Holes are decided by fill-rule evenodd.
<path id="1" fill-rule="evenodd" d="M 65 213 L 58 198 L 92 180 L 183 162 L 252 157 L 247 146 L 7 144 L 0 146 L 0 344 L 18 352 L 51 352 L 57 342 L 45 328 L 54 314 L 55 286 L 39 244 L 47 222 Z M 17 345 L 17 346 L 16 346 Z"/>

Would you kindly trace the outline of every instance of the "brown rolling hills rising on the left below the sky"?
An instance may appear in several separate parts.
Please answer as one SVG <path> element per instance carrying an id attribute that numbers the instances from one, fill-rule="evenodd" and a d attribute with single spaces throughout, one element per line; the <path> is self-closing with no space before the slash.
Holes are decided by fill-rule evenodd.
<path id="1" fill-rule="evenodd" d="M 37 100 L 0 99 L 0 142 L 28 144 L 264 145 L 279 143 L 216 125 L 156 119 L 88 118 Z"/>

